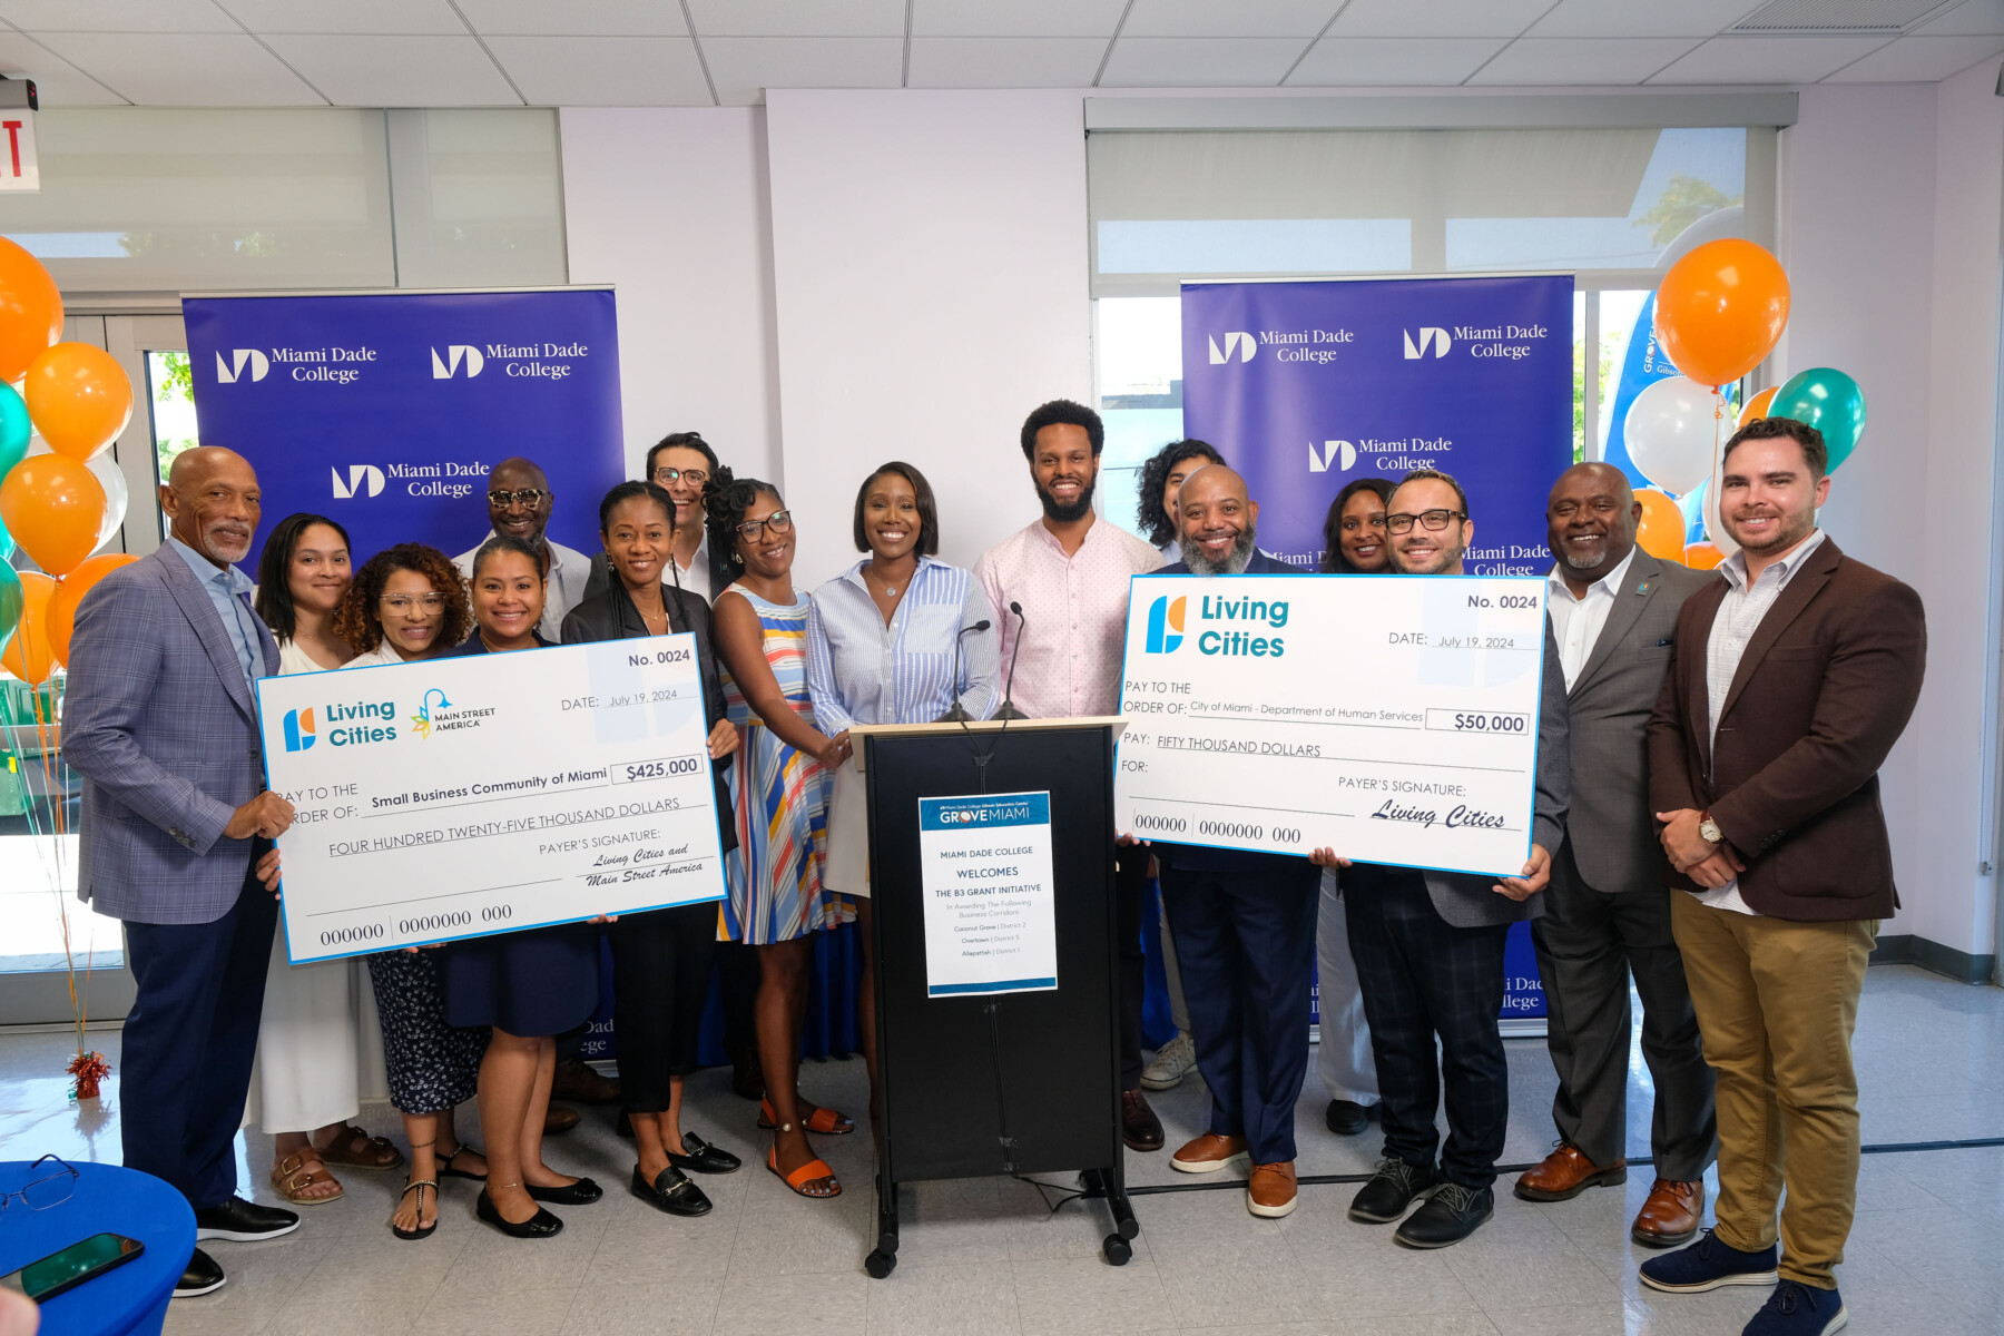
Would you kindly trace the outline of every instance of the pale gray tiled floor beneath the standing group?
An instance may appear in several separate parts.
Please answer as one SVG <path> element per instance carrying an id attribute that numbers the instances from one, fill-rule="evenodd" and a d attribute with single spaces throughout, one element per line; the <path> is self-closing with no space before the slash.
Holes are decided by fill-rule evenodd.
<path id="1" fill-rule="evenodd" d="M 116 1034 L 94 1040 L 116 1064 Z M 116 1086 L 100 1110 L 66 1104 L 64 1056 L 64 1036 L 0 1036 L 0 1158 L 118 1158 Z M 2004 989 L 1876 967 L 1858 1058 L 1868 1146 L 2004 1138 Z M 1551 1136 L 1551 1066 L 1537 1040 L 1513 1040 L 1509 1060 L 1505 1158 L 1527 1162 Z M 1631 1082 L 1631 1152 L 1647 1154 L 1639 1062 Z M 806 1086 L 848 1110 L 864 1104 L 860 1062 L 810 1064 Z M 1329 1136 L 1323 1102 L 1311 1068 L 1301 1172 L 1367 1172 L 1375 1134 Z M 904 1200 L 898 1270 L 876 1282 L 862 1272 L 872 1216 L 864 1138 L 820 1142 L 848 1192 L 806 1202 L 758 1168 L 754 1106 L 729 1094 L 723 1072 L 693 1078 L 693 1106 L 689 1126 L 747 1160 L 735 1176 L 703 1180 L 717 1204 L 703 1220 L 671 1220 L 629 1198 L 631 1152 L 609 1116 L 589 1110 L 553 1142 L 551 1162 L 609 1192 L 559 1212 L 557 1240 L 495 1234 L 473 1220 L 473 1184 L 455 1182 L 439 1232 L 405 1244 L 385 1226 L 401 1176 L 347 1172 L 347 1198 L 305 1212 L 297 1234 L 214 1246 L 230 1284 L 176 1302 L 168 1332 L 1731 1336 L 1764 1298 L 1637 1286 L 1627 1220 L 1647 1170 L 1625 1192 L 1559 1206 L 1499 1192 L 1495 1220 L 1443 1252 L 1407 1252 L 1385 1228 L 1353 1224 L 1345 1208 L 1355 1188 L 1343 1184 L 1303 1188 L 1301 1208 L 1281 1222 L 1255 1220 L 1232 1190 L 1146 1194 L 1134 1200 L 1142 1234 L 1122 1268 L 1100 1260 L 1108 1226 L 1090 1204 L 1048 1214 L 1032 1188 L 1006 1178 L 924 1184 Z M 1156 1108 L 1174 1146 L 1198 1130 L 1202 1088 L 1192 1078 Z M 367 1108 L 365 1122 L 401 1138 L 385 1106 Z M 275 1200 L 269 1140 L 246 1134 L 238 1146 L 242 1180 Z M 1188 1184 L 1160 1154 L 1128 1156 L 1128 1174 L 1136 1186 Z M 2004 1148 L 1866 1156 L 1858 1198 L 1838 1274 L 1854 1332 L 2004 1332 Z"/>

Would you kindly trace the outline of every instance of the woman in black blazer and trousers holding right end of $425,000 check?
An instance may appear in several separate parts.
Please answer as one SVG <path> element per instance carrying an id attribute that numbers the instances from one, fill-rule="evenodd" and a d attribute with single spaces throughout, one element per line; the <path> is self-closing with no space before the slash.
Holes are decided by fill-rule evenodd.
<path id="1" fill-rule="evenodd" d="M 563 643 L 585 645 L 643 635 L 687 633 L 703 675 L 709 759 L 737 751 L 737 729 L 723 717 L 723 681 L 709 647 L 709 605 L 673 579 L 675 503 L 653 483 L 621 483 L 599 503 L 599 539 L 613 579 L 563 619 Z M 717 835 L 737 845 L 723 771 L 711 767 Z M 695 1070 L 695 1040 L 709 993 L 717 947 L 713 903 L 623 913 L 607 929 L 613 945 L 613 1032 L 619 1038 L 619 1084 L 633 1122 L 639 1164 L 633 1196 L 673 1216 L 701 1216 L 709 1198 L 683 1170 L 729 1174 L 737 1158 L 681 1130 L 681 1078 Z"/>

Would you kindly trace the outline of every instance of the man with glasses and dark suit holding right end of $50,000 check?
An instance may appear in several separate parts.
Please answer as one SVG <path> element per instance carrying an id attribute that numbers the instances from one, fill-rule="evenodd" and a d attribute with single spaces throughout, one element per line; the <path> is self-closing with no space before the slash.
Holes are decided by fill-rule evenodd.
<path id="1" fill-rule="evenodd" d="M 1413 469 L 1385 503 L 1391 565 L 1401 575 L 1461 575 L 1475 537 L 1469 499 L 1437 469 Z M 1509 1130 L 1509 1064 L 1497 1016 L 1503 1010 L 1503 939 L 1509 925 L 1543 913 L 1551 853 L 1565 835 L 1571 791 L 1565 745 L 1565 679 L 1545 635 L 1537 711 L 1537 779 L 1531 857 L 1517 877 L 1387 867 L 1335 857 L 1351 867 L 1351 957 L 1363 985 L 1377 1060 L 1385 1158 L 1351 1202 L 1351 1220 L 1399 1226 L 1409 1248 L 1447 1248 L 1495 1214 L 1497 1156 Z M 1439 1042 L 1439 1058 L 1435 1058 Z M 1445 1072 L 1447 1146 L 1435 1126 Z M 1441 1152 L 1435 1166 L 1435 1150 Z"/>

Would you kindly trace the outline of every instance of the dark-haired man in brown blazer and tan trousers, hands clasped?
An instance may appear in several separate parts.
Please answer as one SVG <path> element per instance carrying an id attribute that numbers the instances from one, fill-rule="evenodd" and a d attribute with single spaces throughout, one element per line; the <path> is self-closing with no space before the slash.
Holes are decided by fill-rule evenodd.
<path id="1" fill-rule="evenodd" d="M 1900 897 L 1878 767 L 1920 697 L 1920 595 L 1816 529 L 1824 437 L 1758 419 L 1725 443 L 1739 553 L 1677 617 L 1649 719 L 1649 801 L 1705 1062 L 1717 1072 L 1717 1228 L 1641 1266 L 1655 1290 L 1772 1284 L 1745 1336 L 1844 1326 L 1834 1268 L 1858 1190 L 1852 1030 Z M 1782 1258 L 1776 1266 L 1776 1206 Z"/>

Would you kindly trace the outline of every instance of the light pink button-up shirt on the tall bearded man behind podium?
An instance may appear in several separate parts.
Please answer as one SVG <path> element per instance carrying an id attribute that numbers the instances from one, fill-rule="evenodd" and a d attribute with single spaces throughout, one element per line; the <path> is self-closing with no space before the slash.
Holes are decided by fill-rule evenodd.
<path id="1" fill-rule="evenodd" d="M 1004 681 L 1016 665 L 1016 709 L 1032 719 L 1114 713 L 1128 579 L 1158 569 L 1158 551 L 1104 519 L 1092 521 L 1070 557 L 1044 521 L 982 553 L 974 579 L 1002 623 Z M 1012 601 L 1022 603 L 1020 621 L 1008 611 Z"/>

